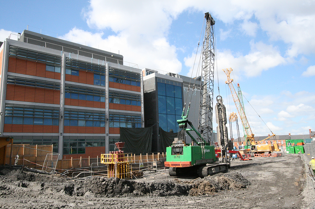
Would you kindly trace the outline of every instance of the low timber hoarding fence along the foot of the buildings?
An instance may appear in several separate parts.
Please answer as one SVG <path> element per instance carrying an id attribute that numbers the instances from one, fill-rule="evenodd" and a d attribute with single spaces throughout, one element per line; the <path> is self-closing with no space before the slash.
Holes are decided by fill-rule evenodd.
<path id="1" fill-rule="evenodd" d="M 11 146 L 8 145 L 6 151 L 6 164 L 10 162 Z M 12 165 L 23 166 L 29 168 L 35 168 L 39 170 L 47 170 L 47 154 L 53 154 L 53 146 L 37 146 L 26 144 L 14 144 L 13 145 L 13 158 Z M 101 155 L 101 153 L 100 153 Z M 75 173 L 84 171 L 92 172 L 96 171 L 97 174 L 104 174 L 107 172 L 105 164 L 100 163 L 101 156 L 96 158 L 79 158 L 79 159 L 60 159 L 57 164 L 54 165 L 58 173 L 65 173 L 72 170 Z M 164 161 L 166 160 L 166 153 L 146 154 L 138 155 L 130 154 L 131 166 L 133 171 L 141 171 L 146 169 L 159 169 L 164 167 Z M 104 167 L 104 168 L 102 168 Z M 71 174 L 71 175 L 72 175 Z"/>

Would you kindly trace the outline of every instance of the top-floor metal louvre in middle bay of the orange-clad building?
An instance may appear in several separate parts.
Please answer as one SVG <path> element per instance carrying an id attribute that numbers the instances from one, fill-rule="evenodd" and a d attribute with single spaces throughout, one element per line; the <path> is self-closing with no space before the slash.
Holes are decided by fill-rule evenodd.
<path id="1" fill-rule="evenodd" d="M 106 73 L 106 67 L 102 65 L 92 64 L 92 63 L 85 63 L 77 60 L 73 60 L 70 58 L 66 59 L 66 68 L 71 68 L 75 70 L 85 70 L 91 71 L 93 73 Z"/>

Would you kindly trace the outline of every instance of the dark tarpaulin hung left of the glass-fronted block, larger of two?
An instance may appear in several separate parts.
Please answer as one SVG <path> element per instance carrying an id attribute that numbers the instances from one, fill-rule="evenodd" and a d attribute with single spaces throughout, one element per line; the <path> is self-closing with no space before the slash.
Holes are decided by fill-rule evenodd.
<path id="1" fill-rule="evenodd" d="M 152 127 L 122 128 L 120 127 L 120 141 L 125 142 L 125 153 L 146 155 L 152 150 Z"/>

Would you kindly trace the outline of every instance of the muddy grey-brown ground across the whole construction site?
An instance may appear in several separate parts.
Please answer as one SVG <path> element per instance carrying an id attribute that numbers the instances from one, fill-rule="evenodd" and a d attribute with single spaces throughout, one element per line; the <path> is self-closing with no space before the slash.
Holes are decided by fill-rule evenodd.
<path id="1" fill-rule="evenodd" d="M 314 208 L 299 155 L 232 162 L 204 179 L 145 172 L 133 180 L 0 171 L 0 208 Z M 195 180 L 197 179 L 197 180 Z M 194 180 L 194 181 L 193 181 Z"/>

